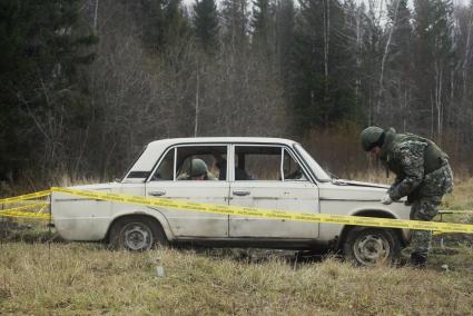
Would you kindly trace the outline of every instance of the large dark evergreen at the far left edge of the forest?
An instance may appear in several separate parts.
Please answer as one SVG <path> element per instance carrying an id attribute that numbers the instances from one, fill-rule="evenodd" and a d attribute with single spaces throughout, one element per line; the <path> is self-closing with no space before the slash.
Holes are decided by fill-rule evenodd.
<path id="1" fill-rule="evenodd" d="M 97 38 L 80 20 L 80 3 L 0 4 L 0 178 L 56 159 L 62 128 L 73 128 L 85 110 L 78 69 L 92 61 Z"/>

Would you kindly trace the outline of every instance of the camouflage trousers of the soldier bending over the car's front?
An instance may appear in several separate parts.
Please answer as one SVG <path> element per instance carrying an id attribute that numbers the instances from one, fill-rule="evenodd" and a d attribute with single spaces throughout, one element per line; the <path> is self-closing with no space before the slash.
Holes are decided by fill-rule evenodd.
<path id="1" fill-rule="evenodd" d="M 452 191 L 453 174 L 449 164 L 425 176 L 420 196 L 412 203 L 411 219 L 432 220 L 438 213 L 442 197 Z M 431 248 L 432 231 L 411 230 L 412 251 L 427 256 Z"/>

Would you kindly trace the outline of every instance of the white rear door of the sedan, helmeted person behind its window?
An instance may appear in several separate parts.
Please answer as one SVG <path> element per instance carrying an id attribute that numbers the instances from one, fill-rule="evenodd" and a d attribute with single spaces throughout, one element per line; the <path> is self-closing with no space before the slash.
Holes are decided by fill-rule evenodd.
<path id="1" fill-rule="evenodd" d="M 228 205 L 227 154 L 226 145 L 180 145 L 168 149 L 146 184 L 146 196 Z M 195 164 L 197 160 L 199 164 Z M 203 164 L 208 169 L 206 176 L 196 174 L 196 166 L 201 168 Z M 178 238 L 228 237 L 228 215 L 154 209 L 161 211 Z"/>

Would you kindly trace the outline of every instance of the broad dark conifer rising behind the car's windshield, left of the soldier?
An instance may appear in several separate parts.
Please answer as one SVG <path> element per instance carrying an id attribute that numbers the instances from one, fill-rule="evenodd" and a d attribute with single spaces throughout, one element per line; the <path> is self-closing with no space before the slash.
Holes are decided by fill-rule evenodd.
<path id="1" fill-rule="evenodd" d="M 327 128 L 351 117 L 355 102 L 345 16 L 335 0 L 305 0 L 300 6 L 290 88 L 295 126 Z"/>

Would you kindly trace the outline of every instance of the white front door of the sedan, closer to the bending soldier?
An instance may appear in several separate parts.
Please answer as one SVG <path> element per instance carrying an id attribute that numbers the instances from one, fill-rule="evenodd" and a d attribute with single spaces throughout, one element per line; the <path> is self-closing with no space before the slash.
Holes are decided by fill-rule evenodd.
<path id="1" fill-rule="evenodd" d="M 318 187 L 308 179 L 290 148 L 235 145 L 231 157 L 235 168 L 231 170 L 230 205 L 319 213 Z M 229 237 L 315 239 L 318 224 L 230 216 Z"/>

